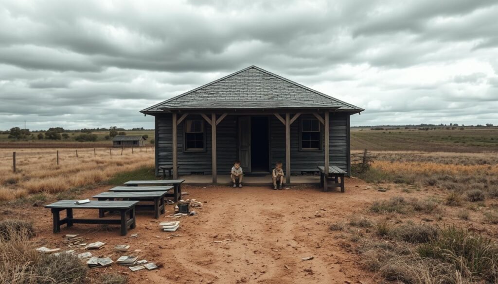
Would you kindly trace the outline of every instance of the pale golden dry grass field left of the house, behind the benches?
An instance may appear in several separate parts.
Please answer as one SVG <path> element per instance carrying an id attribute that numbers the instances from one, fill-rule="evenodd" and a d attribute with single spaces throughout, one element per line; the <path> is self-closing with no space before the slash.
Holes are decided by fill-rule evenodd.
<path id="1" fill-rule="evenodd" d="M 12 149 L 0 149 L 0 157 L 12 154 Z M 133 171 L 154 164 L 151 151 L 131 155 L 130 149 L 98 149 L 94 158 L 93 149 L 63 149 L 56 165 L 55 149 L 16 149 L 17 173 L 12 172 L 12 159 L 0 158 L 0 202 L 26 197 L 28 194 L 65 192 L 105 181 L 120 172 Z M 25 155 L 25 153 L 40 153 Z"/>

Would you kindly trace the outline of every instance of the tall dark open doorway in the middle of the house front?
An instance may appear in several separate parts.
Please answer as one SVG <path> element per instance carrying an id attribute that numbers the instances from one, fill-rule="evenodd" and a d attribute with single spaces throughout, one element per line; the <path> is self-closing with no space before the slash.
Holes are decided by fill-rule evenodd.
<path id="1" fill-rule="evenodd" d="M 268 149 L 268 117 L 251 117 L 250 127 L 250 162 L 251 172 L 269 172 L 269 149 Z"/>

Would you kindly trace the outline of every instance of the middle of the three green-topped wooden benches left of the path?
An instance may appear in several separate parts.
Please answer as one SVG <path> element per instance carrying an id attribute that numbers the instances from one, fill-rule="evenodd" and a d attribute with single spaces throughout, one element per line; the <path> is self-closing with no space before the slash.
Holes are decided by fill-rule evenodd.
<path id="1" fill-rule="evenodd" d="M 164 214 L 164 195 L 167 191 L 138 191 L 138 192 L 116 192 L 106 191 L 92 196 L 98 200 L 114 200 L 121 198 L 123 200 L 152 201 L 153 204 L 136 204 L 136 210 L 152 210 L 156 219 L 160 214 Z M 99 209 L 99 217 L 104 217 L 107 209 Z"/>

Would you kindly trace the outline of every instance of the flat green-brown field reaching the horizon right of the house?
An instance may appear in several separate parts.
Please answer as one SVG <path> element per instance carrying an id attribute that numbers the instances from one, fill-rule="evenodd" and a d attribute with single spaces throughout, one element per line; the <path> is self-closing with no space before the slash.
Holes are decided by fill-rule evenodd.
<path id="1" fill-rule="evenodd" d="M 372 151 L 498 152 L 498 127 L 457 129 L 355 129 L 351 149 Z"/>

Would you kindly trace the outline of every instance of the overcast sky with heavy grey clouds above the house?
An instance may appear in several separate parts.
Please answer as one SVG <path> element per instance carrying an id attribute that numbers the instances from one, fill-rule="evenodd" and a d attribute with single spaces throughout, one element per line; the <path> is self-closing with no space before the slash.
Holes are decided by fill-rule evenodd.
<path id="1" fill-rule="evenodd" d="M 153 127 L 142 108 L 256 65 L 366 109 L 498 124 L 497 0 L 0 0 L 0 129 Z"/>

